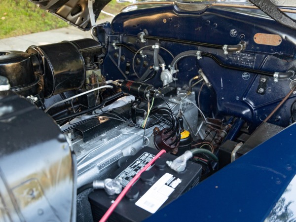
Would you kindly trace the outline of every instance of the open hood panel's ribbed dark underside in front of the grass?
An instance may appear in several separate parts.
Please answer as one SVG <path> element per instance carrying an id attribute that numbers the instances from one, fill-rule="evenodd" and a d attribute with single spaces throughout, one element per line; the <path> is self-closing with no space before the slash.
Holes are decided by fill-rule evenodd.
<path id="1" fill-rule="evenodd" d="M 82 30 L 89 30 L 111 0 L 29 0 Z M 92 13 L 93 11 L 93 13 Z M 90 13 L 91 12 L 91 13 Z"/>

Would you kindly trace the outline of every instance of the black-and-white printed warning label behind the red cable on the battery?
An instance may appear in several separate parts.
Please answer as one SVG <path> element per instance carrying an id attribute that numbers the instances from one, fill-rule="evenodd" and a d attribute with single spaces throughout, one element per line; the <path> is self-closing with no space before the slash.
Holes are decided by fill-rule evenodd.
<path id="1" fill-rule="evenodd" d="M 136 159 L 133 163 L 131 163 L 124 171 L 122 171 L 116 179 L 121 180 L 121 185 L 126 186 L 133 177 L 148 164 L 148 162 L 154 157 L 148 152 L 144 152 L 138 159 Z M 149 169 L 149 168 L 148 168 Z"/>

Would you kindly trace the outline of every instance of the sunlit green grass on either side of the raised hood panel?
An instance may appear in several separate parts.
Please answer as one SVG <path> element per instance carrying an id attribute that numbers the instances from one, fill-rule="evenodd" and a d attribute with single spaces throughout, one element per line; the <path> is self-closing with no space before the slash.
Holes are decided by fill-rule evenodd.
<path id="1" fill-rule="evenodd" d="M 21 36 L 68 26 L 67 22 L 38 8 L 28 0 L 0 0 L 0 39 Z M 130 3 L 112 0 L 103 10 L 117 14 Z M 99 19 L 110 17 L 103 13 Z"/>

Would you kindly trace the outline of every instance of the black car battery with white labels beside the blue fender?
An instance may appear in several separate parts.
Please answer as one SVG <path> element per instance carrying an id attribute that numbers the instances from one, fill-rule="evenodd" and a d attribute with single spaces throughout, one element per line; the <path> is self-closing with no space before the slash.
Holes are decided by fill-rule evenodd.
<path id="1" fill-rule="evenodd" d="M 121 180 L 125 187 L 129 181 L 159 152 L 153 148 L 143 148 L 109 178 Z M 180 195 L 197 185 L 200 180 L 201 165 L 187 161 L 185 171 L 177 173 L 167 166 L 177 156 L 164 153 L 131 187 L 108 219 L 109 222 L 137 222 L 147 219 Z M 99 221 L 118 195 L 109 196 L 104 189 L 92 191 L 89 202 L 94 221 Z"/>

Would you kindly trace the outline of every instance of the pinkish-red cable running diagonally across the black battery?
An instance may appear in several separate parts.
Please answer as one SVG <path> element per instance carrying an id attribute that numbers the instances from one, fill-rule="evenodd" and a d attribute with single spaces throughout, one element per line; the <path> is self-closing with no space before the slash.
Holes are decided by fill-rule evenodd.
<path id="1" fill-rule="evenodd" d="M 117 207 L 117 205 L 119 204 L 119 202 L 122 200 L 122 198 L 125 196 L 125 194 L 128 192 L 128 190 L 132 187 L 132 185 L 134 185 L 136 183 L 136 181 L 139 179 L 139 177 L 141 176 L 141 174 L 146 171 L 148 169 L 149 166 L 151 166 L 156 159 L 158 159 L 163 153 L 165 153 L 165 150 L 162 149 L 160 150 L 159 153 L 157 153 L 153 159 L 151 159 L 147 165 L 145 167 L 142 168 L 142 170 L 140 170 L 135 176 L 134 178 L 125 186 L 125 188 L 121 191 L 121 193 L 118 195 L 118 197 L 116 198 L 116 200 L 112 203 L 112 205 L 110 206 L 110 208 L 106 211 L 106 213 L 104 214 L 104 216 L 101 218 L 100 222 L 106 222 L 108 220 L 108 218 L 110 217 L 110 215 L 112 214 L 112 212 L 115 210 L 115 208 Z"/>

